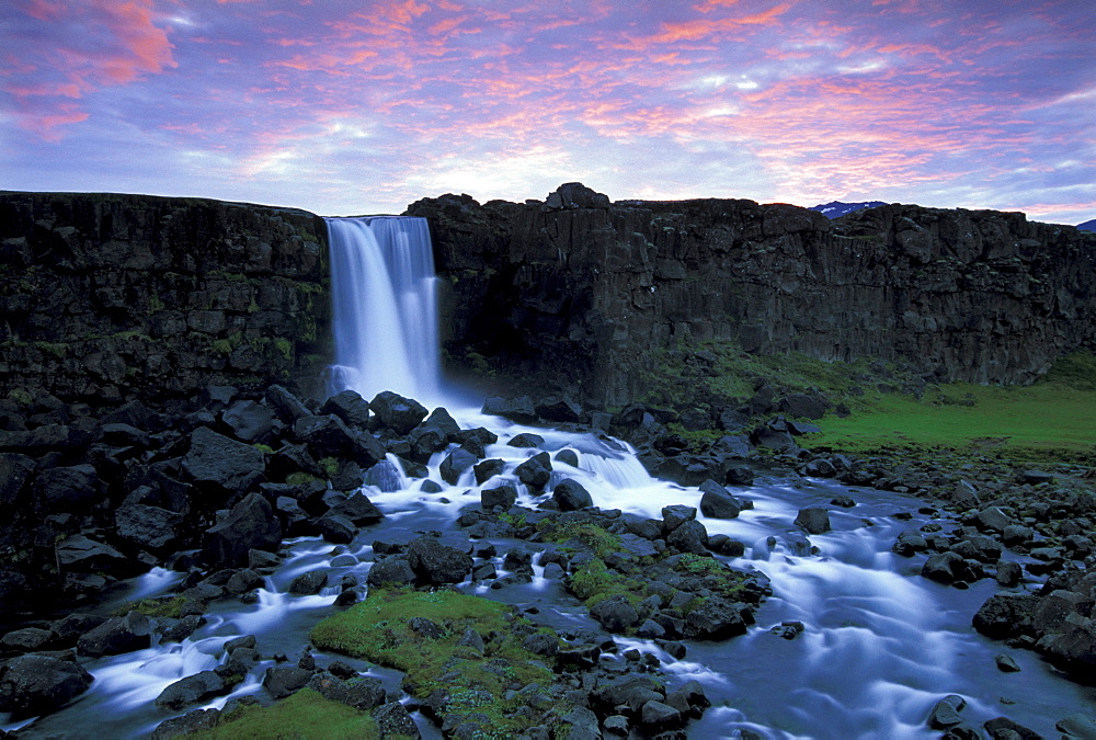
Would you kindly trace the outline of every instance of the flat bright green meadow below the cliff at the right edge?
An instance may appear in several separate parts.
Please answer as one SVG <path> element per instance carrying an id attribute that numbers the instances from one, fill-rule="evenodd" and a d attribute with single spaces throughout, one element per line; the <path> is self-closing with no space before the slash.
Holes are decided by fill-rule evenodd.
<path id="1" fill-rule="evenodd" d="M 809 446 L 847 452 L 947 447 L 1003 459 L 1096 462 L 1096 389 L 952 384 L 917 401 L 883 396 L 846 419 L 826 417 Z"/>

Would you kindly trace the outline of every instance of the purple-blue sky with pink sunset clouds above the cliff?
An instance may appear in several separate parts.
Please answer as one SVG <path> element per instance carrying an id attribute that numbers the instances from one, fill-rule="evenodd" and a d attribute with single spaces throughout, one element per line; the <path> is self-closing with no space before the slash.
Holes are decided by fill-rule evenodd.
<path id="1" fill-rule="evenodd" d="M 1096 218 L 1092 0 L 2 0 L 0 190 Z"/>

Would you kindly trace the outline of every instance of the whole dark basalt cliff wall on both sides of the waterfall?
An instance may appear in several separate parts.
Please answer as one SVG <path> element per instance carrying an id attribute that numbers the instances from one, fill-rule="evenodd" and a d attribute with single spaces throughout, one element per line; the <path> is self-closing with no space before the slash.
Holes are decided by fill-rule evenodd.
<path id="1" fill-rule="evenodd" d="M 707 341 L 1026 383 L 1096 346 L 1096 235 L 888 205 L 831 223 L 742 200 L 443 195 L 429 219 L 450 366 L 619 405 L 658 350 Z M 0 193 L 0 392 L 308 390 L 330 354 L 311 214 L 196 198 Z"/>

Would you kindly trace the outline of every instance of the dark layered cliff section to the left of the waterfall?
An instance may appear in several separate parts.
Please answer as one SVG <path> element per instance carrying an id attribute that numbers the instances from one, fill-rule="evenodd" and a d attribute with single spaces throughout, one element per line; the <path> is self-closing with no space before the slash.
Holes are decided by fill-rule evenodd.
<path id="1" fill-rule="evenodd" d="M 327 230 L 302 210 L 0 193 L 0 394 L 185 395 L 315 378 Z"/>

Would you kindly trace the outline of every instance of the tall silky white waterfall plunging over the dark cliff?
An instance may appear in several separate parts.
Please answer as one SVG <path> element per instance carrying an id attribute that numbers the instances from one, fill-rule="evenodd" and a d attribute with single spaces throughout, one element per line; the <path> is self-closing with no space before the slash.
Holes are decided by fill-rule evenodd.
<path id="1" fill-rule="evenodd" d="M 335 364 L 328 392 L 392 390 L 438 402 L 441 363 L 430 228 L 424 218 L 327 218 Z"/>

